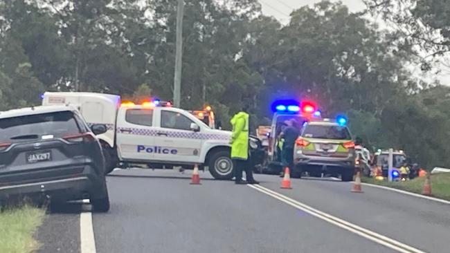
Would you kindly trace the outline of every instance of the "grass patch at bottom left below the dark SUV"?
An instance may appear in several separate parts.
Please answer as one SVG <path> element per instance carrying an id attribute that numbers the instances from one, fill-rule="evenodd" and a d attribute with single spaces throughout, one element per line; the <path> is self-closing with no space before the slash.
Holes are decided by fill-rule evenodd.
<path id="1" fill-rule="evenodd" d="M 24 205 L 0 211 L 0 252 L 28 253 L 39 248 L 33 238 L 44 219 L 44 209 Z"/>

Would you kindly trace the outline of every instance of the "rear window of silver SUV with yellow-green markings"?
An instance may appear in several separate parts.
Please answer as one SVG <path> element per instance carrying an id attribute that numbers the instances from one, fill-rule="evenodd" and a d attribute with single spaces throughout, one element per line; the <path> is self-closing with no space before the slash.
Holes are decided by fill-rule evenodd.
<path id="1" fill-rule="evenodd" d="M 347 127 L 320 126 L 308 124 L 302 133 L 303 137 L 332 140 L 351 140 Z"/>

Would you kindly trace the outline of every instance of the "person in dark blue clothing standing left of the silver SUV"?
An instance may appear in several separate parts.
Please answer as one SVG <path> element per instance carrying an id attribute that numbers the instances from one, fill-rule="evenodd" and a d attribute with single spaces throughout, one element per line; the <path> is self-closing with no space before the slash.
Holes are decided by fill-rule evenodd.
<path id="1" fill-rule="evenodd" d="M 296 140 L 300 135 L 300 126 L 294 119 L 288 120 L 287 127 L 280 133 L 280 138 L 285 139 L 281 151 L 281 163 L 283 167 L 289 167 L 289 170 L 294 167 L 294 146 Z M 281 176 L 284 176 L 285 171 L 281 171 Z"/>

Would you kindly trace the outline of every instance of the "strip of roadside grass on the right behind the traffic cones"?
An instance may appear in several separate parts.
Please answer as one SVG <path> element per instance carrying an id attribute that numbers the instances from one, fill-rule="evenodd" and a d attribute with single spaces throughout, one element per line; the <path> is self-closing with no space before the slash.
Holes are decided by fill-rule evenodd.
<path id="1" fill-rule="evenodd" d="M 375 180 L 374 178 L 362 178 L 362 181 L 422 194 L 425 178 L 414 178 L 405 182 L 388 182 L 387 180 Z M 431 191 L 435 198 L 450 200 L 450 173 L 432 174 Z"/>

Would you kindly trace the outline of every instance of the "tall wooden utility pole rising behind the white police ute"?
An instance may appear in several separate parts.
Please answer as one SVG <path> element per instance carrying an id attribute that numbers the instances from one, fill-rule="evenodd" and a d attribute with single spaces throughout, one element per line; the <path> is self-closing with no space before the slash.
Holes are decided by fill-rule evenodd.
<path id="1" fill-rule="evenodd" d="M 183 12 L 184 0 L 178 0 L 177 8 L 177 41 L 175 50 L 175 74 L 174 74 L 174 106 L 181 104 L 181 67 L 183 65 Z"/>

